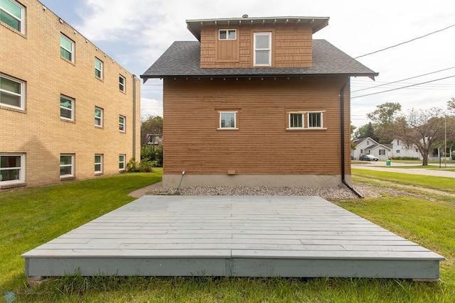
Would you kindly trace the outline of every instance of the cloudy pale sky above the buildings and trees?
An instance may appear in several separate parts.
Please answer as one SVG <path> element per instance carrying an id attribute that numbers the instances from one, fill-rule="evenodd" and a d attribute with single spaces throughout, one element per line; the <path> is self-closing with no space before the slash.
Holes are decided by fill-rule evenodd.
<path id="1" fill-rule="evenodd" d="M 176 40 L 196 40 L 186 20 L 270 16 L 329 17 L 313 38 L 326 39 L 351 57 L 381 50 L 455 25 L 454 0 L 41 0 L 45 6 L 138 77 Z M 446 107 L 455 97 L 455 26 L 357 59 L 379 72 L 375 81 L 351 78 L 351 123 L 385 102 L 410 109 Z M 447 69 L 447 70 L 444 70 Z M 437 72 L 444 70 L 441 72 Z M 429 74 L 423 77 L 417 77 Z M 402 79 L 406 81 L 388 84 Z M 448 79 L 441 79 L 451 77 Z M 434 82 L 430 82 L 434 81 Z M 397 89 L 422 82 L 405 89 Z M 375 87 L 381 84 L 381 87 Z M 375 87 L 375 88 L 371 88 Z M 162 116 L 162 81 L 141 85 L 141 116 Z M 361 91 L 358 91 L 363 89 Z M 378 92 L 396 89 L 392 92 Z M 358 92 L 356 92 L 358 91 Z M 364 96 L 365 94 L 373 94 Z"/>

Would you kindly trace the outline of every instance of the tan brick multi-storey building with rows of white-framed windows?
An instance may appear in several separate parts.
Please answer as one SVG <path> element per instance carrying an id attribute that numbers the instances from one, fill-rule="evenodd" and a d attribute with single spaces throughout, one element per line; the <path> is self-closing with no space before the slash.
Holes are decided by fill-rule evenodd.
<path id="1" fill-rule="evenodd" d="M 139 158 L 139 79 L 39 1 L 0 10 L 0 190 L 118 174 Z"/>

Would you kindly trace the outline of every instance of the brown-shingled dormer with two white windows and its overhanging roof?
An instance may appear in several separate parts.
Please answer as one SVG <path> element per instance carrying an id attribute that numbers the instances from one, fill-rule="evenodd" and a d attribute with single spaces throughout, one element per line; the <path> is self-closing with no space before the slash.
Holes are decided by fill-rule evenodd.
<path id="1" fill-rule="evenodd" d="M 200 68 L 302 68 L 312 66 L 313 34 L 328 17 L 187 20 L 200 41 Z"/>

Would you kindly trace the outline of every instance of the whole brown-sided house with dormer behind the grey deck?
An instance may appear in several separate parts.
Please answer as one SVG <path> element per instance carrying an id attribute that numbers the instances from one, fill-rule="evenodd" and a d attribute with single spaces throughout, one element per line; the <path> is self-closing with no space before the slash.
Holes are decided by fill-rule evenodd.
<path id="1" fill-rule="evenodd" d="M 328 18 L 186 24 L 141 75 L 164 79 L 164 187 L 349 184 L 350 77 L 378 73 L 313 40 Z"/>

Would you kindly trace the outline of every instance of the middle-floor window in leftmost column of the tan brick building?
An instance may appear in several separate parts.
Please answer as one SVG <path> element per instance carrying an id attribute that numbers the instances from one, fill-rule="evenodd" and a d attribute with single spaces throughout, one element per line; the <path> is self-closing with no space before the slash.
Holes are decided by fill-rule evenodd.
<path id="1" fill-rule="evenodd" d="M 0 105 L 25 109 L 25 82 L 0 74 Z"/>

